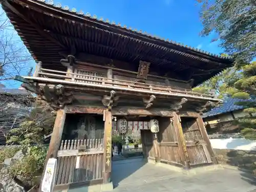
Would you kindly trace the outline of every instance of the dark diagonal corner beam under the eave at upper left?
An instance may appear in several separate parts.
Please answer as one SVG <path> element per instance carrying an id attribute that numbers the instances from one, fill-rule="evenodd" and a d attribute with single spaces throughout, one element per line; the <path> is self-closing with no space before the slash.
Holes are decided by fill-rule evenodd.
<path id="1" fill-rule="evenodd" d="M 29 23 L 31 25 L 31 27 L 34 27 L 36 29 L 36 31 L 44 36 L 46 39 L 51 40 L 52 42 L 54 42 L 55 44 L 57 44 L 58 46 L 60 46 L 62 49 L 65 49 L 65 46 L 63 46 L 62 44 L 60 44 L 59 41 L 57 41 L 55 38 L 53 38 L 51 35 L 49 35 L 48 33 L 45 33 L 43 29 L 41 29 L 38 25 L 34 24 L 28 17 L 26 17 L 24 14 L 20 13 L 20 11 L 18 11 L 15 7 L 13 7 L 8 1 L 4 1 L 2 3 L 2 6 L 5 6 L 7 8 L 9 8 L 13 13 L 15 13 L 17 16 L 19 16 L 20 18 L 22 18 L 23 20 L 25 20 L 25 22 Z"/>

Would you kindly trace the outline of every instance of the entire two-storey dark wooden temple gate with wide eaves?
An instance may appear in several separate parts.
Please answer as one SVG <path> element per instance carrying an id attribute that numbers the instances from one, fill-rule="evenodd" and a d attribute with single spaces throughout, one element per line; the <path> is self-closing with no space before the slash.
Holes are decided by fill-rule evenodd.
<path id="1" fill-rule="evenodd" d="M 200 115 L 221 100 L 191 88 L 232 66 L 231 58 L 53 1 L 1 4 L 37 62 L 33 76 L 15 79 L 57 110 L 46 159 L 57 158 L 56 187 L 111 183 L 114 117 L 158 119 L 157 139 L 142 132 L 149 159 L 186 169 L 218 163 Z M 102 134 L 82 135 L 71 144 L 63 133 L 71 114 L 100 115 Z M 87 144 L 87 139 L 94 143 Z"/>

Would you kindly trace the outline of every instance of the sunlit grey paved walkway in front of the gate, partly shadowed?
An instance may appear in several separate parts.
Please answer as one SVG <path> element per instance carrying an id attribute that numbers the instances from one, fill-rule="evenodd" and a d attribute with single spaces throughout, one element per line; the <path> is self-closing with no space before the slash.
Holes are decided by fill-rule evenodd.
<path id="1" fill-rule="evenodd" d="M 251 175 L 239 170 L 217 169 L 185 175 L 145 164 L 142 159 L 114 161 L 112 180 L 114 192 L 256 192 Z"/>

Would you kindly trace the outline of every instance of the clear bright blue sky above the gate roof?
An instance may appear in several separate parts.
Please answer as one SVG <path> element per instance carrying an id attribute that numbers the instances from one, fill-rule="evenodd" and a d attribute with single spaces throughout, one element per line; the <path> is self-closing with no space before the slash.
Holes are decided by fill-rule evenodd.
<path id="1" fill-rule="evenodd" d="M 47 0 L 48 1 L 48 0 Z M 184 3 L 186 2 L 186 3 Z M 214 54 L 222 53 L 218 42 L 210 42 L 211 37 L 200 37 L 202 25 L 199 18 L 200 7 L 196 0 L 57 0 L 62 7 L 76 8 L 132 27 L 137 30 L 169 38 L 185 45 Z M 22 42 L 20 42 L 22 43 Z M 34 62 L 30 62 L 34 65 Z M 26 73 L 26 72 L 25 72 Z M 15 83 L 14 87 L 20 83 Z"/>

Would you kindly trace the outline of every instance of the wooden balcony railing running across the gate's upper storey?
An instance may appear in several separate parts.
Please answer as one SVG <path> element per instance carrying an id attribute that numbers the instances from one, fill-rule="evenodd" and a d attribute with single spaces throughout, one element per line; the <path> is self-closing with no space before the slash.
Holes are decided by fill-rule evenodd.
<path id="1" fill-rule="evenodd" d="M 82 70 L 76 70 L 79 73 L 68 73 L 63 71 L 49 70 L 40 68 L 40 72 L 37 73 L 38 77 L 44 77 L 49 79 L 62 79 L 67 81 L 90 83 L 90 84 L 101 84 L 103 86 L 113 86 L 113 87 L 122 87 L 135 90 L 146 90 L 146 91 L 156 91 L 163 93 L 175 93 L 175 94 L 187 94 L 201 97 L 214 98 L 214 95 L 203 94 L 200 92 L 195 92 L 187 89 L 173 89 L 167 86 L 159 86 L 155 84 L 143 83 L 143 82 L 134 82 L 129 80 L 121 80 L 116 78 L 106 78 L 101 77 L 97 72 L 86 72 L 82 74 Z"/>

